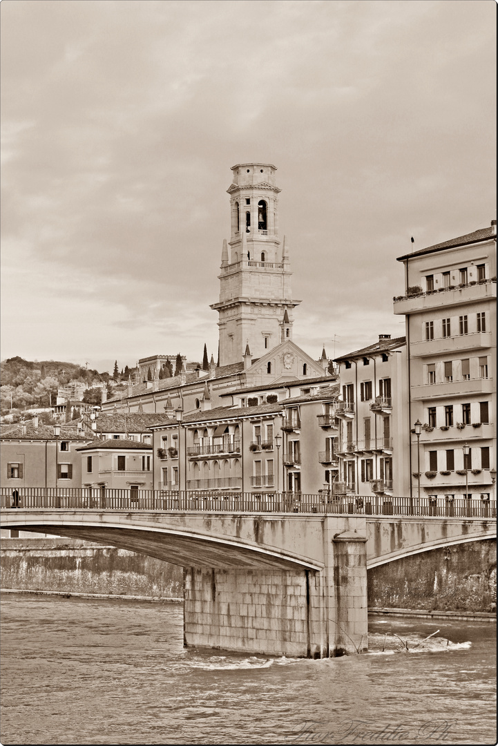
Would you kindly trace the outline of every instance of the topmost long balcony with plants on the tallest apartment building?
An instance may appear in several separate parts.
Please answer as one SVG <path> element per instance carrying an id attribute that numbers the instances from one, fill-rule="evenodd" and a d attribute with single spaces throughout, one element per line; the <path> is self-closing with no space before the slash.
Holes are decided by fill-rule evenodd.
<path id="1" fill-rule="evenodd" d="M 491 239 L 490 239 L 491 240 Z M 394 313 L 417 313 L 417 311 L 438 310 L 443 307 L 460 306 L 474 301 L 490 300 L 497 297 L 497 280 L 481 280 L 475 285 L 444 288 L 417 295 L 403 295 L 394 299 Z"/>

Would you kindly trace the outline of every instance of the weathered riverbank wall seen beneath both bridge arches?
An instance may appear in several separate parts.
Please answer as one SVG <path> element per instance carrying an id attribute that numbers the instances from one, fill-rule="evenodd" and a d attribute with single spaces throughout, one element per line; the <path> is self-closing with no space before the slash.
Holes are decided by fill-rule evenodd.
<path id="1" fill-rule="evenodd" d="M 4 538 L 1 589 L 183 599 L 183 568 L 77 539 Z M 369 609 L 494 612 L 496 542 L 454 545 L 368 570 Z"/>

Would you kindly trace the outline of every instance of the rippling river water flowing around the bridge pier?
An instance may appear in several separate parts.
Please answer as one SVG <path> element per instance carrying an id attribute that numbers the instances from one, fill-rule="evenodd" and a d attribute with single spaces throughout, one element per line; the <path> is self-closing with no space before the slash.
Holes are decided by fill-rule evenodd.
<path id="1" fill-rule="evenodd" d="M 182 615 L 4 595 L 1 743 L 495 743 L 494 625 L 375 617 L 370 653 L 306 660 L 186 650 Z"/>

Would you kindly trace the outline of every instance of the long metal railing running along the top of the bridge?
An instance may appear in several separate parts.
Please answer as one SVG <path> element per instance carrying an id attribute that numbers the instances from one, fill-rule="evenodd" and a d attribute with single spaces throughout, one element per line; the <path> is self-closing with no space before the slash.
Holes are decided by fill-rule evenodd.
<path id="1" fill-rule="evenodd" d="M 227 477 L 220 486 L 229 487 Z M 421 497 L 405 498 L 391 495 L 346 495 L 332 492 L 295 494 L 291 492 L 265 493 L 255 498 L 251 492 L 212 492 L 211 480 L 196 480 L 195 489 L 203 492 L 171 492 L 163 489 L 81 489 L 54 487 L 19 487 L 0 489 L 2 510 L 219 510 L 252 513 L 262 510 L 274 513 L 353 513 L 354 515 L 397 515 L 450 518 L 496 518 L 495 500 L 465 500 Z M 207 483 L 207 484 L 206 484 Z M 233 486 L 233 485 L 232 485 Z M 347 483 L 334 482 L 332 490 L 348 489 Z"/>

